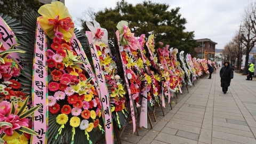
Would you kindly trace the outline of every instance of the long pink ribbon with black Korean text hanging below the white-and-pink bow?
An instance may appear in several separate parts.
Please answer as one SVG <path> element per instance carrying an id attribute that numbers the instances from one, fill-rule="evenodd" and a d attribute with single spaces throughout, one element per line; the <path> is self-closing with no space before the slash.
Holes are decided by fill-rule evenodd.
<path id="1" fill-rule="evenodd" d="M 105 76 L 103 75 L 103 71 L 100 65 L 100 58 L 97 52 L 95 45 L 92 43 L 92 33 L 91 31 L 86 31 L 86 36 L 89 41 L 93 65 L 95 69 L 95 74 L 97 75 L 98 85 L 100 88 L 100 95 L 101 95 L 101 102 L 103 107 L 103 118 L 104 118 L 104 125 L 106 131 L 106 143 L 114 143 L 114 135 L 113 135 L 113 123 L 112 123 L 112 116 L 110 111 L 110 102 L 109 102 L 109 93 L 105 81 Z"/>

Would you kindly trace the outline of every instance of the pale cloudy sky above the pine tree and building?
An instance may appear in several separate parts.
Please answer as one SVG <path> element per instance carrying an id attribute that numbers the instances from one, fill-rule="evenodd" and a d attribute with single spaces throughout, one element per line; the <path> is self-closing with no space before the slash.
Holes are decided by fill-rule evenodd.
<path id="1" fill-rule="evenodd" d="M 82 17 L 82 13 L 89 7 L 95 12 L 107 8 L 114 8 L 118 0 L 66 0 L 73 21 Z M 128 0 L 135 5 L 144 0 Z M 209 38 L 218 43 L 216 49 L 224 49 L 224 46 L 239 31 L 244 7 L 251 0 L 151 0 L 154 3 L 166 3 L 170 9 L 181 7 L 179 13 L 186 18 L 186 30 L 195 31 L 195 39 Z M 79 26 L 76 25 L 77 28 Z"/>

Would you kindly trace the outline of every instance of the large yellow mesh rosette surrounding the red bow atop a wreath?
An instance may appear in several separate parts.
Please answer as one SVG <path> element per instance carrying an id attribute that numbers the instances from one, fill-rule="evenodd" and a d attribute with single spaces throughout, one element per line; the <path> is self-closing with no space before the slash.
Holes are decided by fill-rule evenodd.
<path id="1" fill-rule="evenodd" d="M 59 16 L 59 21 L 63 19 L 70 18 L 72 20 L 71 15 L 68 12 L 67 7 L 61 3 L 61 2 L 52 2 L 51 4 L 45 4 L 41 6 L 38 10 L 38 13 L 43 15 L 43 18 L 39 20 L 39 23 L 41 24 L 42 28 L 44 29 L 45 33 L 51 38 L 54 38 L 54 27 L 56 25 L 49 24 L 49 19 L 55 19 L 57 16 Z M 57 25 L 56 28 L 59 28 L 60 33 L 64 35 L 64 39 L 66 41 L 69 41 L 72 37 L 72 34 L 74 33 L 74 23 L 71 21 L 68 21 L 69 25 L 71 25 L 70 29 L 63 29 L 60 25 Z"/>

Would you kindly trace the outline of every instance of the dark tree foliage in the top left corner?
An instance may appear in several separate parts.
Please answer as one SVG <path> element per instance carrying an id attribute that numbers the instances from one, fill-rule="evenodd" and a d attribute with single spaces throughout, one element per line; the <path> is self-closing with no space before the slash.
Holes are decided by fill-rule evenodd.
<path id="1" fill-rule="evenodd" d="M 0 13 L 8 14 L 22 22 L 25 13 L 37 11 L 40 6 L 38 0 L 1 0 Z"/>

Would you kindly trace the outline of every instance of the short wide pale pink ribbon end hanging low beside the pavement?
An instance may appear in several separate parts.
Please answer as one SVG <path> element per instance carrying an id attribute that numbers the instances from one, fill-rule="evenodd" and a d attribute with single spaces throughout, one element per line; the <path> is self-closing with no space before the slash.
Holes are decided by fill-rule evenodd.
<path id="1" fill-rule="evenodd" d="M 140 111 L 140 127 L 144 126 L 146 129 L 148 129 L 148 99 L 147 99 L 147 90 L 143 91 L 143 97 L 141 102 L 141 111 Z"/>

